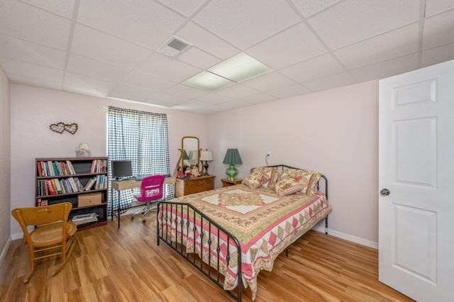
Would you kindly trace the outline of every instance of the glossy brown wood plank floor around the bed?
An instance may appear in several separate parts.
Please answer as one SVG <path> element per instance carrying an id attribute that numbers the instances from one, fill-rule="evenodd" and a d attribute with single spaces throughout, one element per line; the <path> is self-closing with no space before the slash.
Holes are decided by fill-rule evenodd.
<path id="1" fill-rule="evenodd" d="M 62 272 L 44 259 L 28 284 L 30 260 L 22 240 L 11 242 L 0 268 L 0 301 L 233 301 L 165 244 L 156 245 L 155 213 L 148 224 L 121 218 L 77 232 L 79 242 Z M 378 281 L 378 253 L 310 231 L 260 272 L 255 301 L 412 301 Z M 243 301 L 252 301 L 250 289 Z"/>

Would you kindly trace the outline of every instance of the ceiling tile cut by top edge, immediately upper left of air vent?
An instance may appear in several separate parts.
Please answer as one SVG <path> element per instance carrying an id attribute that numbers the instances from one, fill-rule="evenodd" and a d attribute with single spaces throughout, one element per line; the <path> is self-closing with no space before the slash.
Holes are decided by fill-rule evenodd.
<path id="1" fill-rule="evenodd" d="M 184 22 L 182 16 L 149 0 L 81 1 L 77 21 L 156 49 Z"/>

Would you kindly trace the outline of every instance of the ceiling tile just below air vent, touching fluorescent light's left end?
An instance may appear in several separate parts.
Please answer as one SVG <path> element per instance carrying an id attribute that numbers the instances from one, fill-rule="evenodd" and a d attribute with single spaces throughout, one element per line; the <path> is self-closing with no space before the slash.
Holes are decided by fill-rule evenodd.
<path id="1" fill-rule="evenodd" d="M 157 52 L 153 54 L 139 70 L 164 79 L 172 79 L 174 82 L 182 82 L 202 71 L 200 68 L 188 65 L 172 57 L 161 55 Z"/>

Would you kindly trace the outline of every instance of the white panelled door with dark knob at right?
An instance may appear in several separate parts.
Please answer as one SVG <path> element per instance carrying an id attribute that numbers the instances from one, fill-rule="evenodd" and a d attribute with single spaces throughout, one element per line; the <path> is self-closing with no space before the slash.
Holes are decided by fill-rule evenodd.
<path id="1" fill-rule="evenodd" d="M 381 80 L 379 108 L 379 279 L 454 301 L 454 60 Z"/>

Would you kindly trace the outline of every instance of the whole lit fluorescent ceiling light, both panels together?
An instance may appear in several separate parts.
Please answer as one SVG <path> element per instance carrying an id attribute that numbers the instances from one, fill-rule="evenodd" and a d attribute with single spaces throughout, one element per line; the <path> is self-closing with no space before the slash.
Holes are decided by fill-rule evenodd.
<path id="1" fill-rule="evenodd" d="M 240 52 L 238 55 L 187 79 L 183 84 L 207 91 L 215 91 L 272 71 L 270 67 L 263 65 L 244 52 Z"/>

